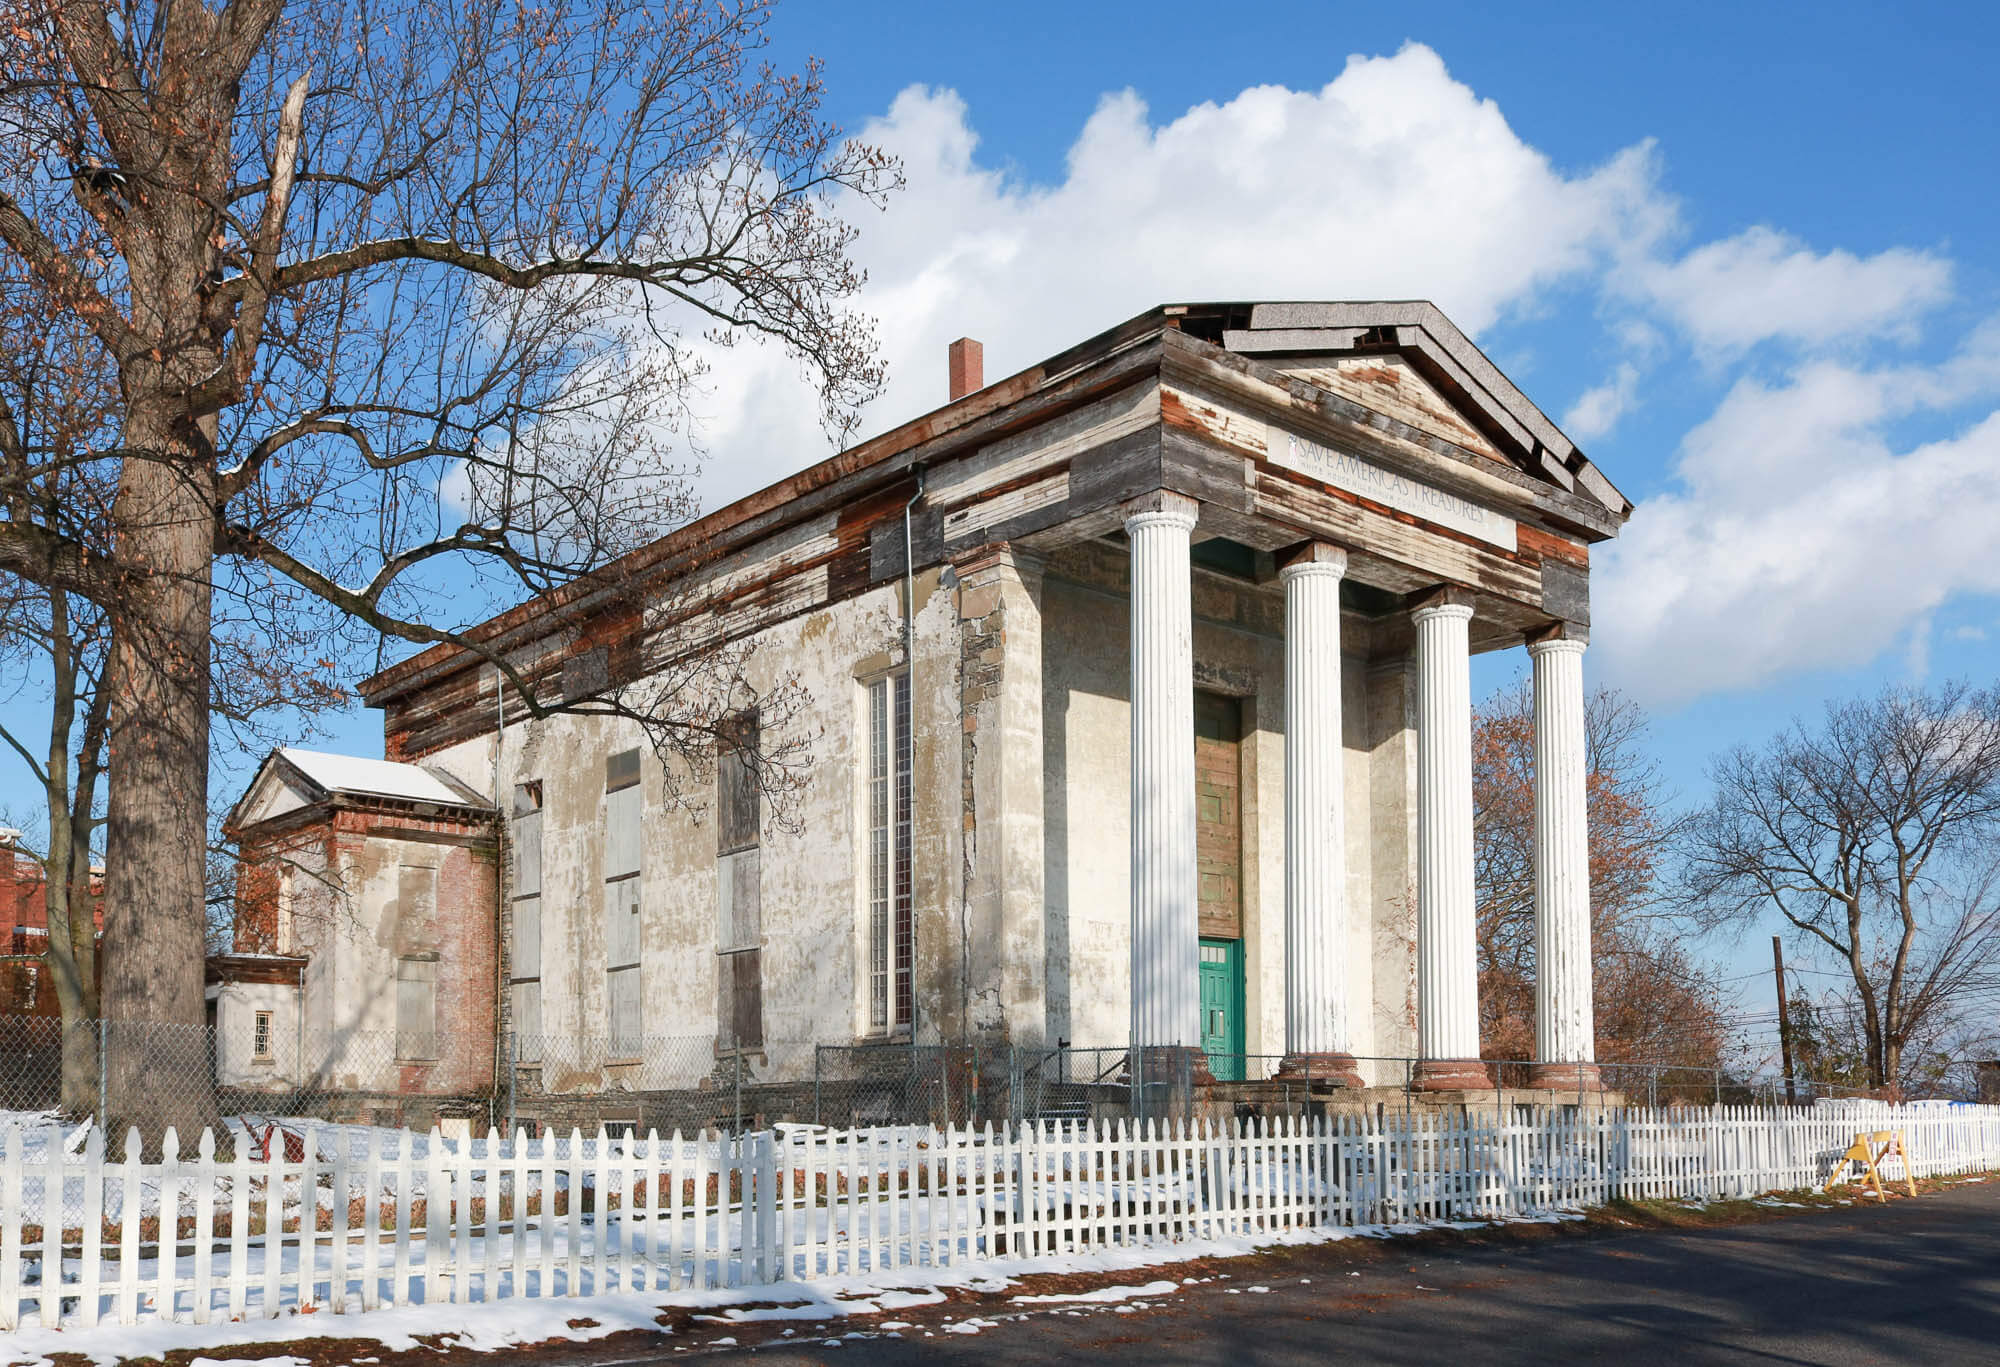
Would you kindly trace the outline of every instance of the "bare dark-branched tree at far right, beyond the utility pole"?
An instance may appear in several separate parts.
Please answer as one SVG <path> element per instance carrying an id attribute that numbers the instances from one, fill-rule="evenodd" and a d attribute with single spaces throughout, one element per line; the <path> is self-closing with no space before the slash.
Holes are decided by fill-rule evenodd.
<path id="1" fill-rule="evenodd" d="M 1846 973 L 1868 1083 L 2000 983 L 2000 691 L 1890 687 L 1712 765 L 1680 841 L 1698 925 L 1776 911 Z"/>

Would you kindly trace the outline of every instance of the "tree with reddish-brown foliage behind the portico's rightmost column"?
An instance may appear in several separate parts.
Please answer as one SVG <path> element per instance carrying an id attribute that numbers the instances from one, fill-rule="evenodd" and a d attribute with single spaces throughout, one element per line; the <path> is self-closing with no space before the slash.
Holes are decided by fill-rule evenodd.
<path id="1" fill-rule="evenodd" d="M 1718 1067 L 1730 1045 L 1712 973 L 1652 919 L 1678 829 L 1646 713 L 1596 689 L 1584 703 L 1590 819 L 1590 937 L 1598 1059 Z M 1534 1057 L 1534 695 L 1488 697 L 1472 719 L 1480 1041 L 1496 1059 Z"/>

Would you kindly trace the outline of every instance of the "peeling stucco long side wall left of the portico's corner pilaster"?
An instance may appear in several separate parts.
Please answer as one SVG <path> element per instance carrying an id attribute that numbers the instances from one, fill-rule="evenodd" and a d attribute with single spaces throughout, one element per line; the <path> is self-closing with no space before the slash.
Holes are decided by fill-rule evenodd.
<path id="1" fill-rule="evenodd" d="M 920 1035 L 956 1031 L 960 993 L 960 632 L 954 594 L 938 572 L 916 578 L 918 612 L 912 713 L 914 789 L 914 1011 Z M 758 636 L 748 684 L 768 689 L 794 674 L 808 701 L 792 727 L 812 735 L 812 763 L 786 829 L 766 809 L 762 825 L 762 1057 L 756 1075 L 812 1069 L 814 1043 L 868 1033 L 864 759 L 866 685 L 904 664 L 902 582 L 812 612 Z M 604 761 L 642 751 L 642 1015 L 658 1059 L 654 1085 L 692 1085 L 708 1071 L 716 1033 L 718 859 L 714 779 L 676 769 L 682 799 L 634 721 L 556 715 L 514 723 L 500 759 L 502 803 L 516 783 L 542 783 L 542 1029 L 584 1045 L 608 1029 L 604 933 Z M 466 741 L 442 763 L 478 787 L 492 783 L 490 737 Z M 676 761 L 678 763 L 678 761 Z M 616 1085 L 588 1047 L 570 1055 L 588 1077 L 544 1077 L 546 1089 Z"/>

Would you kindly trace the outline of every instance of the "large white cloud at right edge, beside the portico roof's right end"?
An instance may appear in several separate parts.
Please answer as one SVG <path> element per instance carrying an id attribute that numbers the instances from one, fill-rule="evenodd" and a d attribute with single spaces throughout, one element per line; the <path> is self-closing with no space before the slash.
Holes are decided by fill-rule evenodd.
<path id="1" fill-rule="evenodd" d="M 2000 412 L 1898 442 L 2000 396 L 1992 330 L 1934 368 L 1812 362 L 1738 382 L 1688 434 L 1680 488 L 1598 560 L 1606 674 L 1652 703 L 1864 666 L 1958 594 L 2000 594 Z"/>

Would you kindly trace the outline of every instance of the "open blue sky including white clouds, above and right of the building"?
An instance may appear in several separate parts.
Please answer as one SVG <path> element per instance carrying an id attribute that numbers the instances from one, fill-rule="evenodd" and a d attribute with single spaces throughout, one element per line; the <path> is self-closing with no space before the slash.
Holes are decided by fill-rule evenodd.
<path id="1" fill-rule="evenodd" d="M 1000 376 L 1172 298 L 1434 298 L 1636 500 L 1588 668 L 1686 797 L 1830 695 L 1992 680 L 2000 6 L 1528 12 L 792 0 L 772 56 L 910 178 L 856 212 L 864 428 L 960 334 Z M 792 370 L 718 358 L 710 506 L 826 454 Z"/>

